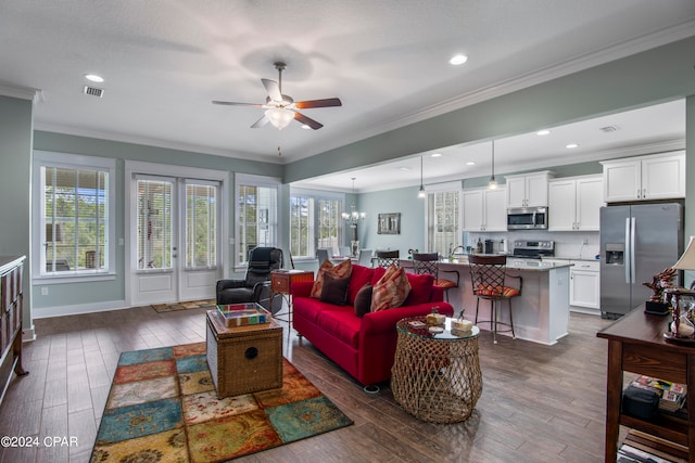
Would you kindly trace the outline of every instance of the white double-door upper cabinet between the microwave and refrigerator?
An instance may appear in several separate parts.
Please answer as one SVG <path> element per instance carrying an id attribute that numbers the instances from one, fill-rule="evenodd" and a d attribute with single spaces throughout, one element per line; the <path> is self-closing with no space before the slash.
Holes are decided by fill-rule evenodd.
<path id="1" fill-rule="evenodd" d="M 548 231 L 598 231 L 603 176 L 548 181 Z"/>

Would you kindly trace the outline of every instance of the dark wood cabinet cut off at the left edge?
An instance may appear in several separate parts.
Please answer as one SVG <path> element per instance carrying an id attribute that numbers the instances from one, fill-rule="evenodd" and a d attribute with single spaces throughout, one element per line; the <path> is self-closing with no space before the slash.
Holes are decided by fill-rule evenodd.
<path id="1" fill-rule="evenodd" d="M 17 375 L 28 373 L 22 366 L 24 259 L 24 256 L 0 256 L 0 401 L 12 371 Z"/>

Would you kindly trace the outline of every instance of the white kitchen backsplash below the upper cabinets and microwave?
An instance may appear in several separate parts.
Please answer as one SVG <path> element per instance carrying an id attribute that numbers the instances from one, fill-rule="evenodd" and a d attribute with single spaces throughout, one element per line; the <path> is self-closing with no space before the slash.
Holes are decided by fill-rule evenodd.
<path id="1" fill-rule="evenodd" d="M 493 240 L 494 249 L 502 250 L 501 241 L 507 241 L 507 249 L 514 252 L 514 242 L 527 241 L 554 241 L 555 256 L 573 259 L 594 259 L 599 249 L 599 233 L 596 232 L 548 232 L 541 230 L 514 231 L 506 233 L 478 233 L 464 232 L 464 245 L 476 247 L 478 239 L 483 242 Z M 586 244 L 583 244 L 583 243 Z"/>

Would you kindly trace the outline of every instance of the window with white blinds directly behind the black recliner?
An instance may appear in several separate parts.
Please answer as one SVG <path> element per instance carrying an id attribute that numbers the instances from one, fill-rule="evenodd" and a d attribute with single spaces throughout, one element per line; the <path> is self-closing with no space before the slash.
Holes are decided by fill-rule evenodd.
<path id="1" fill-rule="evenodd" d="M 278 245 L 278 185 L 271 178 L 237 175 L 235 263 L 244 266 L 249 250 Z"/>

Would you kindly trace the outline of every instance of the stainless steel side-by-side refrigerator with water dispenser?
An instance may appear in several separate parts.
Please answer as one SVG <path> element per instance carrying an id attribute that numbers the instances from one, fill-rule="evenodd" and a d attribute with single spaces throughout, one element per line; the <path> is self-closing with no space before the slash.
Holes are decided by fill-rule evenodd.
<path id="1" fill-rule="evenodd" d="M 602 207 L 602 317 L 617 319 L 648 300 L 653 292 L 642 283 L 650 283 L 655 274 L 673 266 L 682 253 L 681 204 Z"/>

